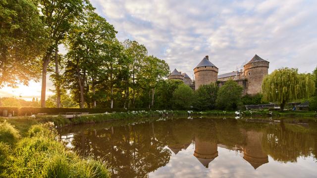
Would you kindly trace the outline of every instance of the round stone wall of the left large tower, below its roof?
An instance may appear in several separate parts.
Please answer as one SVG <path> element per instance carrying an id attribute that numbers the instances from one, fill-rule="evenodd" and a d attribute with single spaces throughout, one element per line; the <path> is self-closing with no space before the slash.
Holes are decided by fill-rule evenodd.
<path id="1" fill-rule="evenodd" d="M 218 68 L 213 66 L 203 66 L 194 69 L 195 74 L 195 89 L 201 85 L 208 85 L 217 81 Z"/>

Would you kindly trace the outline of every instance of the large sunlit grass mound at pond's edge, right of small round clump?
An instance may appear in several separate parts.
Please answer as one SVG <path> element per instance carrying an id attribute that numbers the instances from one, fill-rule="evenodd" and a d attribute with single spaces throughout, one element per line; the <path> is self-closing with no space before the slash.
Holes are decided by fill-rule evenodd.
<path id="1" fill-rule="evenodd" d="M 65 148 L 52 124 L 32 126 L 29 137 L 16 144 L 7 175 L 36 178 L 108 178 L 110 173 L 105 163 L 91 158 L 81 158 Z"/>

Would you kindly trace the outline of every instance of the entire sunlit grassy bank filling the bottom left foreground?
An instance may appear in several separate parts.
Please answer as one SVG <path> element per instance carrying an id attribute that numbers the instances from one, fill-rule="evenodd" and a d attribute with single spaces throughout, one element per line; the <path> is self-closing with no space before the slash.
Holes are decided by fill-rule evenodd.
<path id="1" fill-rule="evenodd" d="M 24 135 L 8 122 L 0 123 L 0 177 L 110 177 L 106 163 L 68 150 L 53 123 L 32 125 Z"/>

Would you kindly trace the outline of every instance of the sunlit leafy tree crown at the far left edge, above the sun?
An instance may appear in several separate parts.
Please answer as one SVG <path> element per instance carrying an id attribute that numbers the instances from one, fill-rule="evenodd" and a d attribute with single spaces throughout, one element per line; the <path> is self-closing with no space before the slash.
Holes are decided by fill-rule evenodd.
<path id="1" fill-rule="evenodd" d="M 44 25 L 30 0 L 0 0 L 0 88 L 39 80 Z"/>

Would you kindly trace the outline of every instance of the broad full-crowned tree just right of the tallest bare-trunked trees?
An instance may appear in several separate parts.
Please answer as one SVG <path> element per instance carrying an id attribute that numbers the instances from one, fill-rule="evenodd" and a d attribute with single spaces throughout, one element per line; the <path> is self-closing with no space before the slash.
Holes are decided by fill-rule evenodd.
<path id="1" fill-rule="evenodd" d="M 81 108 L 84 108 L 84 96 L 89 90 L 88 81 L 92 81 L 95 94 L 97 80 L 108 80 L 106 66 L 119 54 L 117 48 L 120 46 L 114 45 L 117 44 L 115 34 L 113 26 L 93 11 L 87 11 L 85 18 L 69 33 L 65 77 L 72 84 L 70 89 L 79 90 Z"/>

